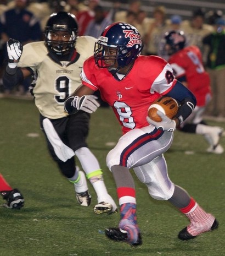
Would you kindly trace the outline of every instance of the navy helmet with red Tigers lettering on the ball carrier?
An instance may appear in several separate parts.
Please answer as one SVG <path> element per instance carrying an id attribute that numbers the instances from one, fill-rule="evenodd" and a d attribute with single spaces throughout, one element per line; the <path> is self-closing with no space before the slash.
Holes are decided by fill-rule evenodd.
<path id="1" fill-rule="evenodd" d="M 110 48 L 116 49 L 115 55 L 109 55 Z M 140 34 L 134 26 L 127 23 L 113 23 L 109 25 L 98 38 L 94 47 L 94 59 L 99 68 L 114 66 L 116 61 L 119 69 L 128 66 L 142 51 L 143 43 Z M 114 60 L 110 66 L 105 64 L 105 59 Z"/>

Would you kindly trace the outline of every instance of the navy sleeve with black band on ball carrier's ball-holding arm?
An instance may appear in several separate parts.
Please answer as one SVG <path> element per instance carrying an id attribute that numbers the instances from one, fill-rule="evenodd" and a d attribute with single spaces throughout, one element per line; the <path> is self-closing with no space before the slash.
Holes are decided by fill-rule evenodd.
<path id="1" fill-rule="evenodd" d="M 183 84 L 177 81 L 173 89 L 166 94 L 178 101 L 179 108 L 176 117 L 180 123 L 190 116 L 196 106 L 196 98 L 194 94 L 188 90 Z"/>

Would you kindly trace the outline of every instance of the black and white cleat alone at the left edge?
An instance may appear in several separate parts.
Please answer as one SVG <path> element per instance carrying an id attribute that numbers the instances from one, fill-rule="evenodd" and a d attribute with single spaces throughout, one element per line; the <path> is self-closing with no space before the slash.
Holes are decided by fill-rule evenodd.
<path id="1" fill-rule="evenodd" d="M 13 190 L 1 191 L 0 193 L 3 199 L 7 200 L 7 203 L 3 204 L 6 208 L 20 209 L 24 206 L 24 197 L 18 189 L 14 188 Z"/>

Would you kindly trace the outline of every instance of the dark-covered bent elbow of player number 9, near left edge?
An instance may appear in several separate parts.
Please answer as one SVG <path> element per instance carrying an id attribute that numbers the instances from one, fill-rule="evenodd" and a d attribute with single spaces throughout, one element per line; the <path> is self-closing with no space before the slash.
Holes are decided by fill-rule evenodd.
<path id="1" fill-rule="evenodd" d="M 20 68 L 9 68 L 7 65 L 2 80 L 4 88 L 12 89 L 15 85 L 22 83 L 24 75 Z"/>

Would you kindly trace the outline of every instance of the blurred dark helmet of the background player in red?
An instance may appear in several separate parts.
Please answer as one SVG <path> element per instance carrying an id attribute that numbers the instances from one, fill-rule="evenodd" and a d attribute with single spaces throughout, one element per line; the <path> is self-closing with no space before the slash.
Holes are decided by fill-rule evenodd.
<path id="1" fill-rule="evenodd" d="M 165 44 L 170 45 L 170 50 L 167 50 L 168 55 L 182 50 L 185 47 L 186 38 L 183 31 L 172 30 L 165 34 Z"/>

